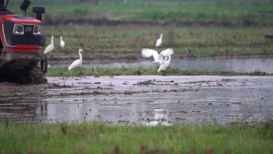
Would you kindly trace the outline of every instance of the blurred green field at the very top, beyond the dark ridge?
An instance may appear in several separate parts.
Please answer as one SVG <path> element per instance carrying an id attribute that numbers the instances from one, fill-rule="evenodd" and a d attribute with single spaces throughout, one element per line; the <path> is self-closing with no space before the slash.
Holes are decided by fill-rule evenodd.
<path id="1" fill-rule="evenodd" d="M 11 1 L 9 9 L 15 13 L 21 1 Z M 273 2 L 262 1 L 101 1 L 100 4 L 72 1 L 33 1 L 33 6 L 47 9 L 46 16 L 54 23 L 66 19 L 108 20 L 187 20 L 201 22 L 228 22 L 231 25 L 272 25 Z M 28 14 L 32 15 L 32 9 Z M 228 24 L 228 25 L 229 25 Z"/>

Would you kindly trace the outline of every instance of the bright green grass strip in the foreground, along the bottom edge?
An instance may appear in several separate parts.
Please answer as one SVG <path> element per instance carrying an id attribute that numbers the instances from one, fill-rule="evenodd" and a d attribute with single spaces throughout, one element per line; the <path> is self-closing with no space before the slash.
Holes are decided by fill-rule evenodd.
<path id="1" fill-rule="evenodd" d="M 272 122 L 171 127 L 0 122 L 0 153 L 272 153 L 271 145 Z"/>

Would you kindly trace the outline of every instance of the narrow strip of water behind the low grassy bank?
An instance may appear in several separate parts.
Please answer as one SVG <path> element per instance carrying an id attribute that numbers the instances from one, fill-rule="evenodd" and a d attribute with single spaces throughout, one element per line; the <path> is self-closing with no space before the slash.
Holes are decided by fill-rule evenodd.
<path id="1" fill-rule="evenodd" d="M 50 61 L 52 67 L 67 67 L 73 61 Z M 152 59 L 143 61 L 127 61 L 127 62 L 105 62 L 101 61 L 84 61 L 83 67 L 139 67 L 154 66 Z M 252 72 L 260 70 L 266 73 L 273 73 L 273 57 L 256 57 L 256 58 L 234 58 L 234 59 L 214 59 L 214 58 L 198 58 L 198 59 L 173 59 L 172 67 L 180 69 L 194 70 L 221 70 L 235 72 Z"/>

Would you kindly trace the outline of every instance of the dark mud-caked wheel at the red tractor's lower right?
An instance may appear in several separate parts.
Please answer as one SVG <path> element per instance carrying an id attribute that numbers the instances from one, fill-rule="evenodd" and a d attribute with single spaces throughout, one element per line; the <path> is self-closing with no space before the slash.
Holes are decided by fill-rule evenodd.
<path id="1" fill-rule="evenodd" d="M 34 66 L 29 71 L 27 76 L 29 76 L 29 79 L 32 84 L 44 84 L 48 82 L 47 78 L 45 77 L 45 74 L 37 65 Z"/>

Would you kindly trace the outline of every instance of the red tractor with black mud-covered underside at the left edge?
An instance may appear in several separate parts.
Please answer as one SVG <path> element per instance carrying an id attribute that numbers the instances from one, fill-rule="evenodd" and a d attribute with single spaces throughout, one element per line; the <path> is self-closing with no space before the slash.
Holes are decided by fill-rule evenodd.
<path id="1" fill-rule="evenodd" d="M 45 44 L 41 35 L 45 9 L 33 7 L 36 18 L 32 18 L 13 14 L 8 3 L 0 0 L 0 82 L 46 83 L 47 57 L 38 52 Z M 25 0 L 20 9 L 26 12 L 29 5 Z"/>

